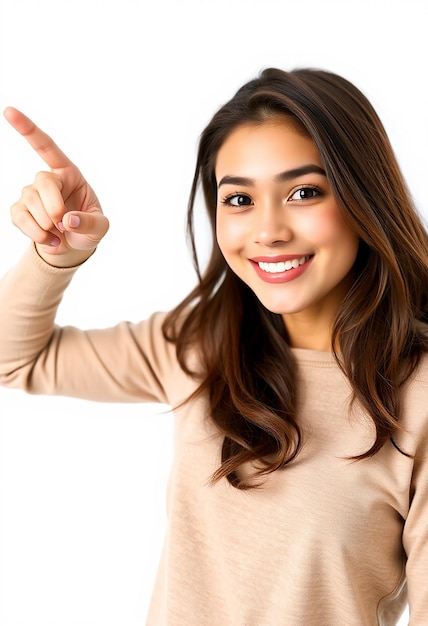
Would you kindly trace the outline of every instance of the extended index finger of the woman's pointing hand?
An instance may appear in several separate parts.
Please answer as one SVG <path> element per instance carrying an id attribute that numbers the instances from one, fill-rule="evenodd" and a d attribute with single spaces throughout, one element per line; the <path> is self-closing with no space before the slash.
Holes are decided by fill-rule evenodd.
<path id="1" fill-rule="evenodd" d="M 4 116 L 20 135 L 25 137 L 30 146 L 52 170 L 73 165 L 70 159 L 56 145 L 49 135 L 43 132 L 29 117 L 15 109 L 7 107 Z"/>

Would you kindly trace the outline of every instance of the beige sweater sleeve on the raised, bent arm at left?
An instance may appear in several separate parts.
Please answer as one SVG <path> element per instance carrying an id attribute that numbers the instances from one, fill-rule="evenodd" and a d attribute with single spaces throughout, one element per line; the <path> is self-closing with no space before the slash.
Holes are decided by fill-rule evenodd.
<path id="1" fill-rule="evenodd" d="M 178 365 L 164 314 L 98 330 L 55 325 L 76 268 L 45 263 L 34 246 L 0 281 L 0 384 L 35 394 L 169 404 Z"/>

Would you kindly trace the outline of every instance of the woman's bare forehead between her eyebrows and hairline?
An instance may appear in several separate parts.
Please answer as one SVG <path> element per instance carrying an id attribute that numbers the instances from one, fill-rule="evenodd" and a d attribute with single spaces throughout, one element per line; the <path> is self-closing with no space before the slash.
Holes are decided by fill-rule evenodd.
<path id="1" fill-rule="evenodd" d="M 223 142 L 216 159 L 216 177 L 242 174 L 259 177 L 300 167 L 322 165 L 315 142 L 296 123 L 285 119 L 245 123 Z"/>

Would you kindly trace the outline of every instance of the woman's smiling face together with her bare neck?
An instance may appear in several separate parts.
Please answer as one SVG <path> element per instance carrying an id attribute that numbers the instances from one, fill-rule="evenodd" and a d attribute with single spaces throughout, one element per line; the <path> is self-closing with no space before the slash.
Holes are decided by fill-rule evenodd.
<path id="1" fill-rule="evenodd" d="M 219 150 L 216 179 L 217 241 L 227 264 L 282 314 L 292 345 L 329 349 L 358 238 L 315 143 L 285 118 L 240 126 Z"/>

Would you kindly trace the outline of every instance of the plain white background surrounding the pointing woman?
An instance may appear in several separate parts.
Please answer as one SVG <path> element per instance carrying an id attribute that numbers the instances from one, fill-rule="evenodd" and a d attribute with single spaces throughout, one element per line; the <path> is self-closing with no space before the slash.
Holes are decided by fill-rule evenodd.
<path id="1" fill-rule="evenodd" d="M 136 321 L 193 286 L 184 216 L 198 135 L 269 65 L 355 82 L 427 216 L 426 7 L 1 0 L 0 108 L 21 108 L 55 138 L 111 220 L 59 321 Z M 0 147 L 4 273 L 27 246 L 9 206 L 43 165 L 2 120 Z M 171 416 L 4 389 L 0 412 L 2 626 L 143 624 L 165 528 Z"/>

